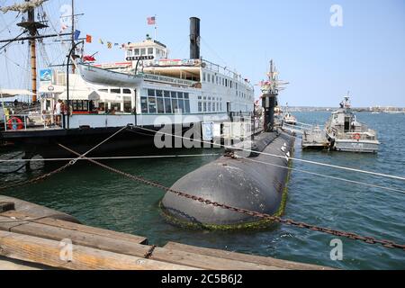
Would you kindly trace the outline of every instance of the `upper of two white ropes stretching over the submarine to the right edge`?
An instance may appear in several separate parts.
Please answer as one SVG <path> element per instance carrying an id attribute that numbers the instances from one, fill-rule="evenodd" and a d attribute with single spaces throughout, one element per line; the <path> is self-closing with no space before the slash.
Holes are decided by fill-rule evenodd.
<path id="1" fill-rule="evenodd" d="M 155 132 L 155 133 L 158 133 L 158 134 L 161 134 L 161 135 L 172 136 L 172 137 L 175 137 L 175 138 L 187 139 L 187 140 L 192 140 L 192 141 L 196 141 L 196 142 L 200 142 L 200 143 L 205 143 L 205 144 L 210 144 L 210 145 L 212 145 L 212 143 L 209 142 L 209 141 L 203 141 L 203 140 L 199 140 L 199 139 L 185 138 L 185 137 L 183 137 L 183 136 L 178 136 L 178 135 L 174 135 L 174 134 L 169 134 L 169 133 L 165 133 L 165 132 L 161 132 L 161 131 L 157 131 L 157 130 L 150 130 L 150 129 L 148 129 L 148 128 L 139 127 L 139 126 L 137 126 L 137 128 L 139 128 L 139 129 L 141 129 L 141 130 L 148 130 L 148 131 L 151 131 L 151 132 Z M 222 144 L 214 144 L 214 145 L 215 145 L 216 147 L 233 148 L 232 146 L 226 146 L 226 145 L 222 145 Z M 265 152 L 257 152 L 257 151 L 249 150 L 249 149 L 245 149 L 245 148 L 240 148 L 239 150 L 245 151 L 245 152 L 248 152 L 248 153 L 256 153 L 256 154 L 266 155 L 266 156 L 270 156 L 270 157 L 277 157 L 277 158 L 283 158 L 283 159 L 286 158 L 286 157 L 280 156 L 280 155 L 275 155 L 275 154 L 265 153 Z M 327 167 L 330 167 L 330 168 L 336 168 L 336 169 L 340 169 L 340 170 L 346 170 L 346 171 L 351 171 L 351 172 L 357 172 L 357 173 L 362 173 L 362 174 L 367 174 L 367 175 L 376 175 L 376 176 L 381 176 L 381 177 L 386 177 L 386 178 L 391 178 L 391 179 L 396 179 L 396 180 L 405 181 L 405 177 L 401 177 L 401 176 L 397 176 L 397 175 L 387 175 L 387 174 L 383 174 L 383 173 L 376 173 L 376 172 L 371 172 L 371 171 L 365 171 L 365 170 L 356 169 L 356 168 L 350 168 L 350 167 L 345 167 L 345 166 L 337 166 L 337 165 L 325 164 L 325 163 L 320 163 L 320 162 L 310 161 L 310 160 L 304 160 L 304 159 L 294 158 L 294 157 L 288 157 L 288 159 L 289 159 L 289 160 L 298 161 L 298 162 L 302 162 L 302 163 L 311 164 L 311 165 L 327 166 Z"/>

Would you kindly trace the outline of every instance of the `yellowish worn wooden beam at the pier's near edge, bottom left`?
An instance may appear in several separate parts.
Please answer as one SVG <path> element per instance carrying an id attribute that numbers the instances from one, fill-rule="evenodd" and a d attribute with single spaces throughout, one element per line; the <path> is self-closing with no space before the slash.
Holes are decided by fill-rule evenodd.
<path id="1" fill-rule="evenodd" d="M 73 246 L 72 260 L 66 261 L 60 257 L 61 251 L 58 241 L 0 231 L 1 256 L 45 266 L 77 270 L 195 269 L 78 245 Z"/>

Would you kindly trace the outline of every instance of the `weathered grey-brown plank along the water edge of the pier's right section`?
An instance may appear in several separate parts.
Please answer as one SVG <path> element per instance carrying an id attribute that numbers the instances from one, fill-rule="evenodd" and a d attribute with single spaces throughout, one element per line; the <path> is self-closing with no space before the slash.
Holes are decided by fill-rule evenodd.
<path id="1" fill-rule="evenodd" d="M 272 257 L 259 257 L 224 250 L 217 250 L 211 248 L 194 247 L 175 242 L 169 242 L 165 246 L 166 249 L 190 252 L 211 257 L 224 258 L 229 260 L 237 260 L 241 262 L 256 263 L 264 266 L 275 266 L 280 269 L 287 270 L 332 270 L 332 268 L 324 266 L 314 266 L 309 264 L 295 263 L 286 260 L 275 259 Z"/>

